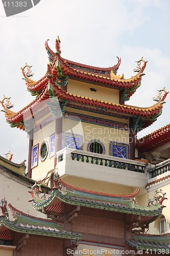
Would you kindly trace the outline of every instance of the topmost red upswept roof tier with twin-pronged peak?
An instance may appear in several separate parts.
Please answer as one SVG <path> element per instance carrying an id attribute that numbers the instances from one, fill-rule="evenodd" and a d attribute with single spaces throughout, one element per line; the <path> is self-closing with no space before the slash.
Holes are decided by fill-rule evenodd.
<path id="1" fill-rule="evenodd" d="M 99 84 L 100 86 L 103 86 L 103 87 L 123 90 L 126 95 L 125 96 L 126 100 L 128 100 L 130 96 L 140 86 L 141 76 L 143 75 L 143 71 L 147 65 L 147 61 L 142 60 L 143 66 L 140 68 L 139 72 L 137 72 L 136 75 L 134 75 L 129 79 L 124 79 L 124 75 L 122 76 L 116 75 L 121 62 L 121 59 L 119 57 L 117 57 L 116 65 L 109 68 L 98 68 L 98 67 L 88 66 L 88 65 L 70 61 L 61 57 L 59 38 L 56 39 L 56 50 L 57 50 L 56 53 L 54 53 L 50 49 L 47 41 L 45 41 L 45 48 L 50 61 L 54 82 L 58 77 L 56 62 L 59 61 L 61 65 L 61 70 L 64 76 L 68 76 L 68 78 L 70 79 L 82 80 L 89 83 L 95 82 L 96 84 Z M 25 77 L 24 79 L 26 80 L 26 86 L 28 91 L 30 91 L 32 95 L 40 94 L 47 84 L 48 67 L 47 67 L 47 73 L 38 81 L 34 81 L 27 76 L 27 72 L 25 72 L 25 67 L 22 68 L 22 73 L 23 73 L 23 76 Z"/>

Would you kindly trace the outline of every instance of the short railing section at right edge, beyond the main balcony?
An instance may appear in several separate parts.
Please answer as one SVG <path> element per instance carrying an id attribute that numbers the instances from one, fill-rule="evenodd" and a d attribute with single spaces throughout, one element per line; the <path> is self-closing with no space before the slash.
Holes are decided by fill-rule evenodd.
<path id="1" fill-rule="evenodd" d="M 148 169 L 149 179 L 155 178 L 161 174 L 164 174 L 170 170 L 170 159 L 163 161 L 156 166 Z"/>

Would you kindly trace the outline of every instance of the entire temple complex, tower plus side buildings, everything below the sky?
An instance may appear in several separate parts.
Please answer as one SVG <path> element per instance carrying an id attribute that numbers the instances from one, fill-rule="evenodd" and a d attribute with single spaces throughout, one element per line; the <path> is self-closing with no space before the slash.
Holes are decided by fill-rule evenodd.
<path id="1" fill-rule="evenodd" d="M 6 121 L 29 135 L 29 157 L 0 157 L 0 254 L 170 254 L 169 125 L 137 139 L 162 114 L 165 88 L 148 108 L 126 101 L 141 85 L 147 66 L 134 76 L 61 57 L 45 42 L 46 74 L 35 81 L 22 68 L 34 100 Z M 5 184 L 5 185 L 3 185 Z M 13 191 L 17 191 L 15 194 Z M 29 193 L 28 193 L 29 191 Z"/>

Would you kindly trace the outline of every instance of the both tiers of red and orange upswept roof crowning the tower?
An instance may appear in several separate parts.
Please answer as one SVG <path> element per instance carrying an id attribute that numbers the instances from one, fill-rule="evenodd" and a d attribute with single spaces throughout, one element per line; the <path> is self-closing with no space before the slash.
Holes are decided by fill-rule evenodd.
<path id="1" fill-rule="evenodd" d="M 157 117 L 161 114 L 161 110 L 163 107 L 164 99 L 166 98 L 167 92 L 164 90 L 164 95 L 160 97 L 159 101 L 156 102 L 156 104 L 148 107 L 148 108 L 141 108 L 138 106 L 132 106 L 127 104 L 116 104 L 112 102 L 107 102 L 99 99 L 93 99 L 89 97 L 85 97 L 83 95 L 76 95 L 71 94 L 69 92 L 66 92 L 65 90 L 61 89 L 62 84 L 66 86 L 68 83 L 67 78 L 70 77 L 72 79 L 83 79 L 83 80 L 89 80 L 92 83 L 95 81 L 96 84 L 102 85 L 102 86 L 110 86 L 113 88 L 117 88 L 119 90 L 123 90 L 123 97 L 128 99 L 137 89 L 137 87 L 140 84 L 141 76 L 143 74 L 143 70 L 146 66 L 146 61 L 143 64 L 143 67 L 141 70 L 132 78 L 130 79 L 124 79 L 123 77 L 119 77 L 116 74 L 114 74 L 114 71 L 118 68 L 120 64 L 120 59 L 118 59 L 118 63 L 111 67 L 106 69 L 100 69 L 101 72 L 112 72 L 112 77 L 109 76 L 103 76 L 96 73 L 89 73 L 87 71 L 81 70 L 84 68 L 89 68 L 89 66 L 85 65 L 79 65 L 79 68 L 77 67 L 75 69 L 74 64 L 77 65 L 76 62 L 64 60 L 60 56 L 60 41 L 59 39 L 56 40 L 56 50 L 57 52 L 54 53 L 47 45 L 47 41 L 45 42 L 45 47 L 49 56 L 49 64 L 47 65 L 47 73 L 43 78 L 41 78 L 39 81 L 33 81 L 30 76 L 28 76 L 28 73 L 25 71 L 25 68 L 27 66 L 27 63 L 25 67 L 22 69 L 22 73 L 25 76 L 26 84 L 28 91 L 30 91 L 33 95 L 36 95 L 37 97 L 25 108 L 21 109 L 17 113 L 11 111 L 11 109 L 7 108 L 4 104 L 3 100 L 1 101 L 2 106 L 4 108 L 6 121 L 11 125 L 11 127 L 17 127 L 21 130 L 25 130 L 25 124 L 23 122 L 23 115 L 25 118 L 31 118 L 32 109 L 38 108 L 38 104 L 42 103 L 43 101 L 52 97 L 58 97 L 59 100 L 65 101 L 65 106 L 68 103 L 74 102 L 77 104 L 77 108 L 82 109 L 82 106 L 86 105 L 86 109 L 90 110 L 90 108 L 93 108 L 92 111 L 102 113 L 103 110 L 107 110 L 110 113 L 121 113 L 125 114 L 126 116 L 132 116 L 135 117 L 136 120 L 134 120 L 134 126 L 137 125 L 139 127 L 139 130 L 148 127 L 151 125 Z M 94 68 L 94 67 L 92 67 Z M 115 69 L 115 70 L 114 70 Z M 99 71 L 99 68 L 96 68 L 95 70 Z M 110 70 L 110 71 L 109 71 Z M 63 88 L 63 87 L 62 87 Z M 140 125 L 139 125 L 140 124 Z"/>

